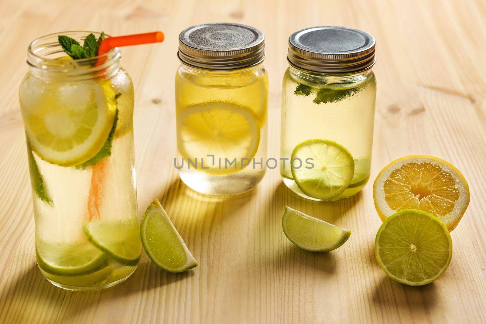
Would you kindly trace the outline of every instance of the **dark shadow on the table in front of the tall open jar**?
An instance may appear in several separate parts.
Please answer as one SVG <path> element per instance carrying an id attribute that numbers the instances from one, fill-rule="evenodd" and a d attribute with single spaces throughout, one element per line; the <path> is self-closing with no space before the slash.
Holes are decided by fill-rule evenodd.
<path id="1" fill-rule="evenodd" d="M 7 278 L 0 292 L 0 323 L 76 323 L 89 317 L 89 309 L 132 294 L 145 294 L 157 287 L 189 278 L 194 272 L 168 273 L 145 260 L 125 282 L 104 290 L 68 291 L 53 286 L 34 263 L 12 280 Z M 86 318 L 88 321 L 88 319 Z"/>

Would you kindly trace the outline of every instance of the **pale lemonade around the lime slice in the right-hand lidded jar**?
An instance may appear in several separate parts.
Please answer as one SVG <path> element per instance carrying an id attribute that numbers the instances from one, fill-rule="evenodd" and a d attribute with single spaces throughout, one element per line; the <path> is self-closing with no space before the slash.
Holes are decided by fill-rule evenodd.
<path id="1" fill-rule="evenodd" d="M 353 156 L 354 175 L 346 190 L 333 200 L 350 197 L 361 191 L 370 175 L 375 76 L 368 70 L 354 76 L 323 78 L 292 69 L 287 69 L 282 84 L 281 155 L 290 161 L 295 146 L 312 138 L 343 145 Z M 287 187 L 314 199 L 296 185 L 289 164 L 286 168 L 280 164 L 280 174 Z"/>

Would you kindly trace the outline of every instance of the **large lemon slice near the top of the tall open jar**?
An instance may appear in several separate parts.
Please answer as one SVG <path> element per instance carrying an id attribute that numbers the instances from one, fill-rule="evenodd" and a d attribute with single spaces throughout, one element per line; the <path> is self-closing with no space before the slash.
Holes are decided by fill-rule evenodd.
<path id="1" fill-rule="evenodd" d="M 103 147 L 116 112 L 109 80 L 53 84 L 22 109 L 33 150 L 61 166 L 87 161 Z M 22 100 L 20 101 L 22 104 Z"/>

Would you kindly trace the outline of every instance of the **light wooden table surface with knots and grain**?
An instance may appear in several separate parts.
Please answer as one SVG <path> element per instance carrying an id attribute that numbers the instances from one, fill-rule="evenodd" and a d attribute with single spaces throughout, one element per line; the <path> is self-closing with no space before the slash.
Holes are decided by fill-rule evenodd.
<path id="1" fill-rule="evenodd" d="M 270 76 L 269 156 L 279 155 L 281 79 L 288 36 L 316 25 L 363 29 L 377 41 L 371 179 L 412 153 L 465 175 L 471 202 L 451 233 L 449 269 L 432 284 L 389 279 L 375 260 L 382 223 L 372 181 L 335 203 L 314 203 L 269 170 L 248 194 L 208 198 L 185 186 L 176 156 L 177 36 L 232 21 L 265 34 Z M 33 39 L 66 30 L 162 30 L 162 44 L 122 49 L 135 84 L 139 216 L 158 198 L 199 266 L 166 273 L 142 253 L 126 282 L 94 292 L 48 283 L 35 264 L 34 218 L 18 86 Z M 0 323 L 485 323 L 486 2 L 474 1 L 16 1 L 0 2 Z M 282 232 L 284 205 L 352 231 L 327 254 Z"/>

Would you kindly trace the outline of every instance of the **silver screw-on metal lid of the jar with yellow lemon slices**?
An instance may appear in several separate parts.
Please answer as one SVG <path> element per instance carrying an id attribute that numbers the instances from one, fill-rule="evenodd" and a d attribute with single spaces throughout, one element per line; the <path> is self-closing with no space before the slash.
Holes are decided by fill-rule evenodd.
<path id="1" fill-rule="evenodd" d="M 265 58 L 263 33 L 254 27 L 227 22 L 192 26 L 179 34 L 177 57 L 196 68 L 247 68 Z"/>

